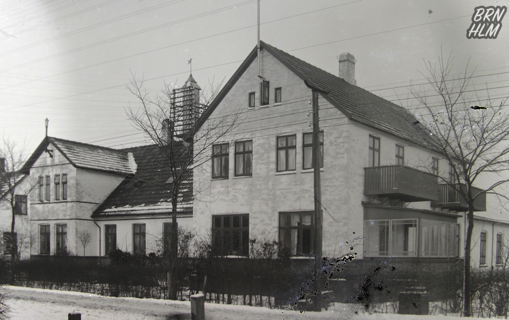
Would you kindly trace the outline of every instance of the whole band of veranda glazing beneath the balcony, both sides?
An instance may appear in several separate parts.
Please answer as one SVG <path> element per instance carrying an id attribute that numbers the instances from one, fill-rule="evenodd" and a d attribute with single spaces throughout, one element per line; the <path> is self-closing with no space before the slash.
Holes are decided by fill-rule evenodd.
<path id="1" fill-rule="evenodd" d="M 458 252 L 457 223 L 425 219 L 364 221 L 365 256 L 457 257 Z"/>

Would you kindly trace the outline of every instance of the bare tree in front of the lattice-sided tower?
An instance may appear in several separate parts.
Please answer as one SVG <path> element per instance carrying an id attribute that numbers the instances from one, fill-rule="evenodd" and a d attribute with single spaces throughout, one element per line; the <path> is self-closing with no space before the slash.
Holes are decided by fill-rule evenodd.
<path id="1" fill-rule="evenodd" d="M 221 82 L 222 83 L 222 82 Z M 237 113 L 225 114 L 222 117 L 207 119 L 201 123 L 198 130 L 195 110 L 206 110 L 211 101 L 219 92 L 221 83 L 210 83 L 210 93 L 201 94 L 200 97 L 192 93 L 187 101 L 195 101 L 192 112 L 186 109 L 185 102 L 179 101 L 175 88 L 164 83 L 161 92 L 154 97 L 144 87 L 144 81 L 132 76 L 128 85 L 129 91 L 136 97 L 139 108 L 126 108 L 126 114 L 135 128 L 142 131 L 146 138 L 155 144 L 160 150 L 162 157 L 158 165 L 162 166 L 162 172 L 170 172 L 167 181 L 145 179 L 145 183 L 151 183 L 168 190 L 171 193 L 172 202 L 172 227 L 169 241 L 169 277 L 168 298 L 177 300 L 178 281 L 178 228 L 177 210 L 179 202 L 199 193 L 206 186 L 193 186 L 192 174 L 194 168 L 200 167 L 211 158 L 212 144 L 216 143 L 224 135 L 238 126 L 239 115 Z M 184 103 L 182 107 L 181 103 Z M 199 113 L 201 114 L 201 113 Z M 185 121 L 191 119 L 191 121 Z M 141 177 L 134 179 L 143 179 Z"/>

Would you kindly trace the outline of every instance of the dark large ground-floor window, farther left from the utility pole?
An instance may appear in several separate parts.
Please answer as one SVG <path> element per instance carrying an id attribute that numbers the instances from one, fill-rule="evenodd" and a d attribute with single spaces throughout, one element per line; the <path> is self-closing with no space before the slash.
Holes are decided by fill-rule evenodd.
<path id="1" fill-rule="evenodd" d="M 217 215 L 212 217 L 214 249 L 222 255 L 248 255 L 249 215 Z"/>

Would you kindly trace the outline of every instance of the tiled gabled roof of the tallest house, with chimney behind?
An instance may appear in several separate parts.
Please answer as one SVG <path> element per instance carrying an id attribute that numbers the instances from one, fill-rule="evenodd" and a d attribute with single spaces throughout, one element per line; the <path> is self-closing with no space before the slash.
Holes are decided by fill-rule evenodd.
<path id="1" fill-rule="evenodd" d="M 330 74 L 320 68 L 304 62 L 297 57 L 277 49 L 261 41 L 262 49 L 272 54 L 282 64 L 299 76 L 303 81 L 320 89 L 327 94 L 321 94 L 337 109 L 342 111 L 348 118 L 389 132 L 407 140 L 414 140 L 421 136 L 414 123 L 415 117 L 404 107 L 389 102 L 375 94 L 370 93 L 356 85 L 350 84 L 344 79 Z M 199 122 L 199 129 L 222 99 L 228 94 L 233 85 L 242 76 L 244 71 L 257 57 L 255 47 L 227 82 L 224 88 L 204 112 Z M 194 130 L 195 132 L 196 130 Z"/>

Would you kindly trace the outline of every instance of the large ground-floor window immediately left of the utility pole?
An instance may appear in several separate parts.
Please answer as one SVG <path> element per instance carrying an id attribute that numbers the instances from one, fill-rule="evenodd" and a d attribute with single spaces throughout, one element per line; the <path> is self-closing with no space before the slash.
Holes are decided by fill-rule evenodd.
<path id="1" fill-rule="evenodd" d="M 313 211 L 280 212 L 279 243 L 292 255 L 313 253 Z"/>

